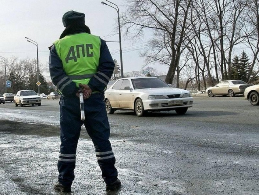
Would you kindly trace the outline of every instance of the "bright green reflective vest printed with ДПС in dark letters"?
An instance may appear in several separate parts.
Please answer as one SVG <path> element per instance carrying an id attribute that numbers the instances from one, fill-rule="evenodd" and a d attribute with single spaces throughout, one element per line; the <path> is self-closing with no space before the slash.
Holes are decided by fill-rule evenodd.
<path id="1" fill-rule="evenodd" d="M 97 73 L 101 40 L 92 34 L 66 35 L 53 43 L 66 75 L 76 83 L 88 84 Z"/>

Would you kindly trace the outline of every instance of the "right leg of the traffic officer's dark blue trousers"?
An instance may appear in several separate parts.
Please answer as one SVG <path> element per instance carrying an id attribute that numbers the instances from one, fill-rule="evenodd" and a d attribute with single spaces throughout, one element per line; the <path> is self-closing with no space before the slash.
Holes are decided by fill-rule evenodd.
<path id="1" fill-rule="evenodd" d="M 109 141 L 110 127 L 103 93 L 92 94 L 85 101 L 84 106 L 86 114 L 85 127 L 94 143 L 102 177 L 106 183 L 114 182 L 117 179 L 118 172 L 114 166 L 115 157 Z"/>

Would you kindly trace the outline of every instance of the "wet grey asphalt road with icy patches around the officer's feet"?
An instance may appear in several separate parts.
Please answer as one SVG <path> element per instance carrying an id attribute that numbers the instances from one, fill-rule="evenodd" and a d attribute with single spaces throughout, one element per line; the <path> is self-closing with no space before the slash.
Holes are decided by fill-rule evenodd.
<path id="1" fill-rule="evenodd" d="M 174 111 L 109 115 L 122 188 L 106 192 L 84 128 L 72 194 L 259 194 L 259 107 L 243 96 L 194 97 Z M 62 194 L 53 190 L 59 153 L 58 100 L 42 106 L 0 105 L 0 194 Z M 65 194 L 65 193 L 64 193 Z"/>

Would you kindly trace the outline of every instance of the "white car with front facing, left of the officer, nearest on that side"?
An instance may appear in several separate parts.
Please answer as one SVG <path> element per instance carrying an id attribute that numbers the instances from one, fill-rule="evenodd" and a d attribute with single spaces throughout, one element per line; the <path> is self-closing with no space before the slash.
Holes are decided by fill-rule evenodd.
<path id="1" fill-rule="evenodd" d="M 37 95 L 34 90 L 20 90 L 14 96 L 14 105 L 17 107 L 18 104 L 21 107 L 28 104 L 41 106 L 41 96 Z"/>

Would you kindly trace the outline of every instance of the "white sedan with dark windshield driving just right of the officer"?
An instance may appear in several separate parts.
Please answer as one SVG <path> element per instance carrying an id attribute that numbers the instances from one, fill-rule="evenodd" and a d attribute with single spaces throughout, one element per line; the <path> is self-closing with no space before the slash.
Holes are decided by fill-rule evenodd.
<path id="1" fill-rule="evenodd" d="M 193 106 L 193 97 L 156 77 L 131 77 L 117 80 L 105 91 L 105 105 L 107 114 L 115 110 L 134 110 L 137 116 L 164 110 L 185 114 Z"/>

